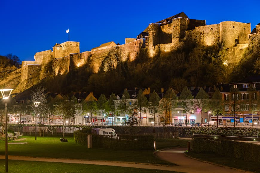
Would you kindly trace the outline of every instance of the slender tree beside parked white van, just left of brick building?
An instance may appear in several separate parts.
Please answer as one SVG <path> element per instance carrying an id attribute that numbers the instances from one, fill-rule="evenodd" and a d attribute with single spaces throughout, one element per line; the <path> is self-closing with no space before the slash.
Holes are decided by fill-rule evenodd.
<path id="1" fill-rule="evenodd" d="M 220 115 L 223 110 L 222 95 L 218 88 L 215 90 L 214 94 L 212 95 L 210 106 L 211 106 L 212 114 L 217 115 L 217 126 L 218 126 L 218 115 Z"/>

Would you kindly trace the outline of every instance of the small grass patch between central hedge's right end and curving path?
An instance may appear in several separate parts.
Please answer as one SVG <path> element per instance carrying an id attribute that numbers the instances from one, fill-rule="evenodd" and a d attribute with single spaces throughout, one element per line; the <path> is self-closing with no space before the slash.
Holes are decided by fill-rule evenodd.
<path id="1" fill-rule="evenodd" d="M 174 147 L 187 147 L 188 141 L 186 139 L 156 139 L 156 148 L 164 149 L 164 148 L 174 148 Z"/>

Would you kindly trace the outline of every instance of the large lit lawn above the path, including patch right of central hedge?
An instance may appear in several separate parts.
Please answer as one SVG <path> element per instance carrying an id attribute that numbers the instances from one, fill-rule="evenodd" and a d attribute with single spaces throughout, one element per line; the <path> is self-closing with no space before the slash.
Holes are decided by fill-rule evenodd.
<path id="1" fill-rule="evenodd" d="M 88 149 L 87 146 L 74 143 L 72 137 L 66 137 L 68 143 L 61 143 L 60 137 L 37 137 L 23 136 L 22 140 L 11 140 L 13 142 L 28 142 L 27 144 L 8 144 L 9 155 L 53 157 L 53 158 L 74 158 L 88 160 L 114 160 L 139 163 L 170 164 L 160 160 L 151 150 L 113 150 L 113 149 Z M 179 141 L 178 141 L 179 140 Z M 180 139 L 158 140 L 157 148 L 169 148 L 175 145 L 184 146 L 186 141 Z M 174 144 L 174 145 L 173 145 Z M 173 145 L 173 146 L 172 146 Z M 0 155 L 4 155 L 4 140 L 0 141 Z"/>

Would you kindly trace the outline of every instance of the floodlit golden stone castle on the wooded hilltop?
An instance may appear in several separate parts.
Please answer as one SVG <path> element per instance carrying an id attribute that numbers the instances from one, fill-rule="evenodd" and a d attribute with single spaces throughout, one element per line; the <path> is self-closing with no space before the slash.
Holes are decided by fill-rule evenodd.
<path id="1" fill-rule="evenodd" d="M 37 52 L 35 61 L 22 61 L 21 81 L 45 77 L 44 69 L 50 61 L 55 65 L 55 74 L 63 74 L 86 63 L 94 73 L 98 72 L 104 57 L 109 52 L 120 49 L 122 60 L 133 61 L 141 49 L 148 52 L 150 58 L 160 52 L 176 50 L 183 41 L 195 41 L 204 46 L 224 43 L 228 51 L 229 62 L 238 62 L 250 40 L 259 39 L 260 24 L 251 32 L 250 23 L 223 21 L 219 24 L 206 25 L 205 20 L 190 19 L 185 13 L 151 23 L 137 38 L 126 38 L 125 44 L 113 41 L 101 44 L 91 51 L 79 51 L 79 42 L 66 41 L 55 44 L 53 50 Z"/>

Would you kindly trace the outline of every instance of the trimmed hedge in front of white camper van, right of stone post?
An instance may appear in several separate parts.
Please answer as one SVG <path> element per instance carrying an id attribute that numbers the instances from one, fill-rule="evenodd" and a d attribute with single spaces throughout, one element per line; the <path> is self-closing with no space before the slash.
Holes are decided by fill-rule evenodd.
<path id="1" fill-rule="evenodd" d="M 92 134 L 93 148 L 154 150 L 154 136 L 120 135 L 118 139 Z"/>

